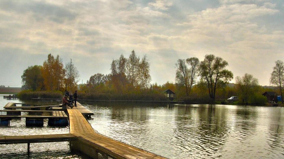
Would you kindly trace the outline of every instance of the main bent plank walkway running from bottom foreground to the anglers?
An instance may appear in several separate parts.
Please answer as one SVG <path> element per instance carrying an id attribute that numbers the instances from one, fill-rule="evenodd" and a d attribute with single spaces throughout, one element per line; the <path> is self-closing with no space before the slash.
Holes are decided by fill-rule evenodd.
<path id="1" fill-rule="evenodd" d="M 80 108 L 82 105 L 77 102 L 77 106 L 78 108 Z M 70 133 L 79 137 L 78 140 L 82 143 L 89 145 L 85 146 L 84 148 L 81 147 L 78 149 L 88 151 L 86 150 L 86 148 L 92 146 L 98 149 L 99 151 L 109 154 L 115 158 L 164 158 L 146 150 L 136 148 L 134 146 L 113 140 L 99 133 L 96 133 L 91 127 L 91 125 L 88 123 L 88 121 L 85 119 L 85 117 L 81 114 L 80 109 L 78 108 L 67 109 L 70 119 Z"/>

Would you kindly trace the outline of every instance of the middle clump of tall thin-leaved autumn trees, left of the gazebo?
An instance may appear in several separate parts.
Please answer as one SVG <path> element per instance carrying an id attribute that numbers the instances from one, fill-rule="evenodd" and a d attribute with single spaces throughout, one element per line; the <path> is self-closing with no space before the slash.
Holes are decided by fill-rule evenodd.
<path id="1" fill-rule="evenodd" d="M 140 98 L 149 93 L 150 87 L 149 60 L 146 55 L 140 59 L 132 50 L 128 57 L 121 54 L 119 59 L 112 60 L 109 74 L 92 75 L 86 85 L 80 85 L 80 90 L 86 95 L 104 96 L 104 99 L 111 95 L 112 98 L 131 100 L 133 95 Z"/>

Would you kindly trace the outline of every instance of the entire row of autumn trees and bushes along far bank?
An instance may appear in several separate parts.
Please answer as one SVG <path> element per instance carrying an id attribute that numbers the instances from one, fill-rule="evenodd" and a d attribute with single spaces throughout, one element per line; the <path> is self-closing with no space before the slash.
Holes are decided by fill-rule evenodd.
<path id="1" fill-rule="evenodd" d="M 236 83 L 230 84 L 233 73 L 226 69 L 227 61 L 213 54 L 206 55 L 203 61 L 196 57 L 178 59 L 175 66 L 175 82 L 151 84 L 147 56 L 140 59 L 133 50 L 128 58 L 121 54 L 119 59 L 113 59 L 109 74 L 96 73 L 85 84 L 77 85 L 79 73 L 72 59 L 63 68 L 59 56 L 54 58 L 49 54 L 43 66 L 31 66 L 24 71 L 22 82 L 26 90 L 59 91 L 62 95 L 67 84 L 69 92 L 79 90 L 79 99 L 91 100 L 167 100 L 164 95 L 167 89 L 175 92 L 175 99 L 201 103 L 224 101 L 231 96 L 238 96 L 238 102 L 242 104 L 264 104 L 266 97 L 262 94 L 265 91 L 275 91 L 282 95 L 282 61 L 276 62 L 271 73 L 270 83 L 278 86 L 273 88 L 259 86 L 258 80 L 251 74 L 237 76 Z M 43 96 L 48 95 L 46 93 Z"/>

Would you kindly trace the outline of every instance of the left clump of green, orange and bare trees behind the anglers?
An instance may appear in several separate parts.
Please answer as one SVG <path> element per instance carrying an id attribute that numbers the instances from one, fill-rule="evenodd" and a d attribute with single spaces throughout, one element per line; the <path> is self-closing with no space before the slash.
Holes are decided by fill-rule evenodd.
<path id="1" fill-rule="evenodd" d="M 67 89 L 74 92 L 77 89 L 80 74 L 72 63 L 72 59 L 64 67 L 59 55 L 54 58 L 49 54 L 42 66 L 28 67 L 21 77 L 23 90 L 53 92 Z"/>

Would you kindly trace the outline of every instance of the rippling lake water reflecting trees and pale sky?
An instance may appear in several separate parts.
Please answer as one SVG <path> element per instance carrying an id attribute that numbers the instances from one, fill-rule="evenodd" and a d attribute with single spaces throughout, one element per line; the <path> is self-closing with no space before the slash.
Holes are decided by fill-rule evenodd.
<path id="1" fill-rule="evenodd" d="M 7 102 L 0 96 L 0 108 Z M 90 124 L 115 140 L 167 158 L 284 158 L 284 107 L 82 103 Z M 0 127 L 0 135 L 68 133 L 69 127 L 25 127 L 24 119 Z M 68 143 L 66 143 L 68 145 Z M 0 148 L 1 152 L 1 148 Z M 62 151 L 36 158 L 84 158 Z"/>

